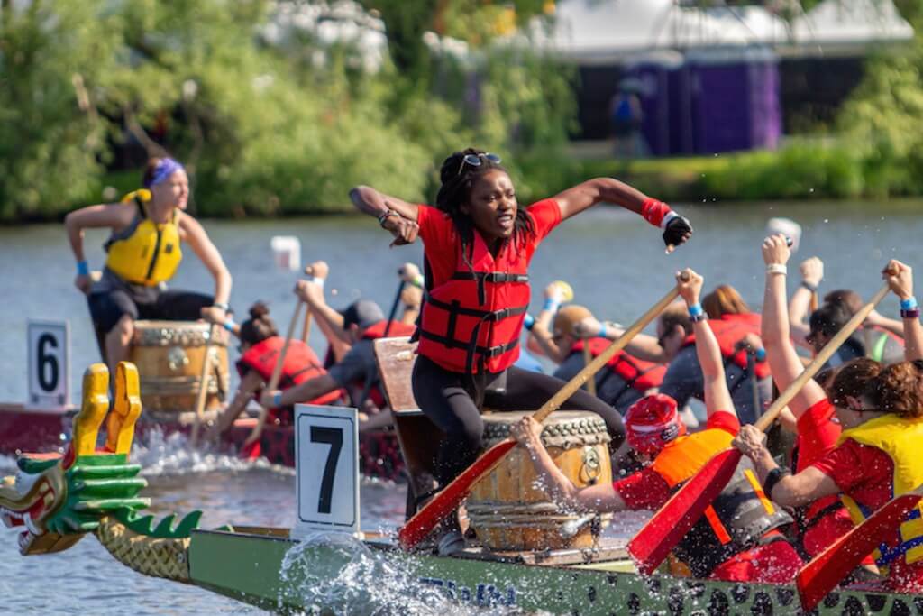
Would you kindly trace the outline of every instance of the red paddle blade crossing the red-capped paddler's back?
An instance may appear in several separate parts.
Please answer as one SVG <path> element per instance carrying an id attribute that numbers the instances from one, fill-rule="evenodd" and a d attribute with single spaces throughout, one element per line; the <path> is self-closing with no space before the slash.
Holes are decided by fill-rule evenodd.
<path id="1" fill-rule="evenodd" d="M 734 475 L 740 452 L 725 449 L 701 467 L 629 542 L 628 550 L 641 575 L 650 575 L 699 520 Z"/>

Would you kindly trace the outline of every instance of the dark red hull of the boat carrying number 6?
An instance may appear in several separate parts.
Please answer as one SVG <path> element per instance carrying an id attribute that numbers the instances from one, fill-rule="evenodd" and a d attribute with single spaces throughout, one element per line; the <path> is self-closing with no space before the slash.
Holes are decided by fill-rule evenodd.
<path id="1" fill-rule="evenodd" d="M 77 411 L 76 407 L 30 409 L 23 405 L 0 404 L 0 454 L 63 453 Z M 238 419 L 224 435 L 225 446 L 229 450 L 241 451 L 254 425 L 256 419 Z M 169 434 L 187 433 L 190 428 L 187 422 L 139 422 L 138 435 L 143 439 L 145 432 L 152 429 Z M 294 467 L 294 429 L 291 425 L 265 426 L 259 444 L 257 454 L 271 464 Z M 403 459 L 394 433 L 368 432 L 360 435 L 359 467 L 366 477 L 402 478 Z"/>

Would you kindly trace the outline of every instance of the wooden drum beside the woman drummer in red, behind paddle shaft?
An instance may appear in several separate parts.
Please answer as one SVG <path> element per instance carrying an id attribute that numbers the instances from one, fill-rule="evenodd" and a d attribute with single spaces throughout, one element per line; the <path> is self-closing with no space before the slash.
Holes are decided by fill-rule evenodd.
<path id="1" fill-rule="evenodd" d="M 509 436 L 509 426 L 531 412 L 484 416 L 485 447 Z M 542 441 L 555 464 L 578 488 L 612 481 L 603 419 L 586 411 L 557 411 L 545 420 Z M 517 447 L 468 497 L 478 539 L 489 550 L 559 550 L 593 546 L 592 513 L 562 511 L 536 485 L 529 454 Z M 605 516 L 605 522 L 611 515 Z"/>

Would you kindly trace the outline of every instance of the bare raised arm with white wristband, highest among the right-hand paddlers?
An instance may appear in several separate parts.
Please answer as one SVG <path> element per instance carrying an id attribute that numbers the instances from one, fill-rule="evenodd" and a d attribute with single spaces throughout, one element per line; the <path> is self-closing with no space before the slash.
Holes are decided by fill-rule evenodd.
<path id="1" fill-rule="evenodd" d="M 762 243 L 762 259 L 766 263 L 766 289 L 762 301 L 763 348 L 779 391 L 785 391 L 804 371 L 801 358 L 795 352 L 788 335 L 788 311 L 785 309 L 785 263 L 791 257 L 785 236 L 769 236 Z M 789 403 L 795 417 L 801 417 L 816 405 L 826 393 L 815 380 L 809 380 Z"/>

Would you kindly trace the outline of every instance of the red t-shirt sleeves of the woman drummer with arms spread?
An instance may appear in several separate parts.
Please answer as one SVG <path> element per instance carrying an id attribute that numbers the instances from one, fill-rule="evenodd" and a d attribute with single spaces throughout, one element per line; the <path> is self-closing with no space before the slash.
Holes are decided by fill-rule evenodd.
<path id="1" fill-rule="evenodd" d="M 532 216 L 534 233 L 525 236 L 523 244 L 510 239 L 510 248 L 522 250 L 526 263 L 532 260 L 535 248 L 561 222 L 561 209 L 555 199 L 536 201 L 526 211 Z M 457 271 L 458 233 L 449 215 L 428 205 L 418 205 L 416 223 L 420 225 L 424 254 L 429 262 L 433 286 L 448 281 Z M 476 231 L 474 233 L 477 233 Z"/>

